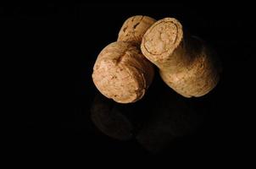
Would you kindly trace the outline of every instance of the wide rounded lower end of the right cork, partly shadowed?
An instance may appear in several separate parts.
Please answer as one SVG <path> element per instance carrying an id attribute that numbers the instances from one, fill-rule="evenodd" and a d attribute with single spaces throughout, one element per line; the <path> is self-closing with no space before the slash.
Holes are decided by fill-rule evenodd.
<path id="1" fill-rule="evenodd" d="M 198 38 L 193 44 L 199 45 L 196 53 L 192 52 L 193 61 L 183 71 L 172 74 L 170 71 L 160 70 L 164 82 L 173 90 L 186 97 L 202 96 L 213 90 L 220 79 L 220 68 L 214 59 L 214 53 Z"/>

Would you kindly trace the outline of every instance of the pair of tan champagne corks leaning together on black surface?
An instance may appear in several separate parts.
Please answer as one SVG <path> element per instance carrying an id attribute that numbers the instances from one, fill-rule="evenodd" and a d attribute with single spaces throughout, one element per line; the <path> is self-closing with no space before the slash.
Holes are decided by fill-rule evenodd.
<path id="1" fill-rule="evenodd" d="M 204 41 L 186 33 L 177 19 L 142 15 L 127 19 L 118 40 L 99 53 L 92 79 L 106 97 L 131 103 L 152 83 L 153 65 L 185 97 L 206 95 L 220 79 L 219 63 Z"/>

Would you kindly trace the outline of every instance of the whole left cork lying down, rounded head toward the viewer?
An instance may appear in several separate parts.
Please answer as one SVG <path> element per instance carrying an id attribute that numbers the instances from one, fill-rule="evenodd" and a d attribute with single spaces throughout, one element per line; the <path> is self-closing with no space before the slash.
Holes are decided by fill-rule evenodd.
<path id="1" fill-rule="evenodd" d="M 120 29 L 118 41 L 97 57 L 92 79 L 103 95 L 120 103 L 138 101 L 153 80 L 153 63 L 142 55 L 142 36 L 155 19 L 136 15 Z"/>

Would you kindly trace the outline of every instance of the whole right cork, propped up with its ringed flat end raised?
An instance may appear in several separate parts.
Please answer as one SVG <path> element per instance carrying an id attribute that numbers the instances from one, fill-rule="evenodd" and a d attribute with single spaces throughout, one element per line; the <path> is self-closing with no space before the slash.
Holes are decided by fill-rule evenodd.
<path id="1" fill-rule="evenodd" d="M 154 23 L 143 36 L 141 48 L 164 82 L 185 97 L 206 95 L 220 79 L 214 53 L 197 37 L 185 35 L 177 19 Z"/>

